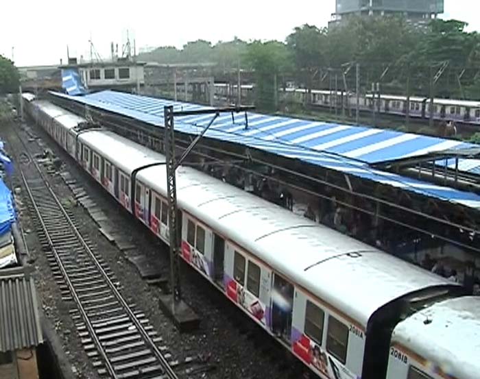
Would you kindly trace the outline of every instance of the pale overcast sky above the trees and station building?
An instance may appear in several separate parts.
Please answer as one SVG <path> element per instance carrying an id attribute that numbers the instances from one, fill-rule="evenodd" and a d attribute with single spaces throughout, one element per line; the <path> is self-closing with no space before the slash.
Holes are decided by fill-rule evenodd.
<path id="1" fill-rule="evenodd" d="M 171 5 L 169 7 L 168 5 Z M 235 9 L 235 7 L 238 7 Z M 199 38 L 217 42 L 238 36 L 284 40 L 304 23 L 326 26 L 335 0 L 176 0 L 176 1 L 8 1 L 0 21 L 0 54 L 19 66 L 58 64 L 70 55 L 89 56 L 92 38 L 100 55 L 108 58 L 110 42 L 119 46 L 136 40 L 137 47 L 182 47 Z M 445 0 L 444 18 L 470 23 L 480 31 L 479 0 Z"/>

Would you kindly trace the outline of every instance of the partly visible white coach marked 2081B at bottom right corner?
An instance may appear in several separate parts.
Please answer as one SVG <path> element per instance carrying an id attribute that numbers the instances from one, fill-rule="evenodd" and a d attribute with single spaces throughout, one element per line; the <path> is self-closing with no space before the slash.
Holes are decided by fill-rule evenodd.
<path id="1" fill-rule="evenodd" d="M 387 379 L 478 379 L 480 298 L 433 304 L 398 323 Z"/>

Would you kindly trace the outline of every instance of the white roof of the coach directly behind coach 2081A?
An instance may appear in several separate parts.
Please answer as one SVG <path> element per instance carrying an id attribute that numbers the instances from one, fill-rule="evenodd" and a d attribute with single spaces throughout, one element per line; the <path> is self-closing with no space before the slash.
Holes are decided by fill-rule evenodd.
<path id="1" fill-rule="evenodd" d="M 147 164 L 165 162 L 162 155 L 113 132 L 92 130 L 80 134 L 78 140 L 108 157 L 115 167 L 128 175 Z"/>

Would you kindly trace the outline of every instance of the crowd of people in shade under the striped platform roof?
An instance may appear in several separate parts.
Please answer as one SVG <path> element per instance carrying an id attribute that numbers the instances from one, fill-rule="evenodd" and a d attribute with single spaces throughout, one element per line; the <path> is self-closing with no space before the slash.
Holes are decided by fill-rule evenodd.
<path id="1" fill-rule="evenodd" d="M 445 219 L 438 204 L 432 199 L 416 204 L 405 191 L 392 190 L 397 191 L 394 193 L 394 195 L 397 195 L 396 204 L 405 209 L 414 209 L 425 215 L 431 215 L 435 219 L 427 218 L 419 221 L 419 216 L 414 212 L 402 212 L 399 215 L 398 210 L 387 206 L 381 206 L 380 209 L 378 202 L 361 199 L 361 197 L 355 197 L 346 192 L 335 191 L 333 186 L 328 185 L 314 188 L 315 193 L 317 193 L 316 197 L 300 196 L 302 198 L 296 201 L 289 187 L 280 184 L 279 175 L 271 168 L 266 168 L 263 175 L 245 173 L 241 167 L 233 165 L 229 167 L 224 164 L 203 164 L 202 169 L 224 182 L 283 206 L 288 210 L 293 210 L 294 205 L 298 210 L 303 205 L 305 207 L 303 216 L 307 219 L 326 225 L 396 256 L 403 256 L 403 254 L 411 256 L 411 253 L 418 250 L 434 250 L 442 243 L 444 244 L 441 239 L 435 238 L 435 234 L 446 236 L 448 239 L 460 243 L 475 244 L 479 240 L 478 235 L 459 228 L 448 227 L 439 221 L 435 221 L 435 219 Z M 296 195 L 298 194 L 296 193 Z M 379 192 L 374 193 L 376 197 L 382 197 L 382 195 Z M 380 212 L 383 217 L 379 217 Z M 454 219 L 452 221 L 458 221 L 458 223 L 470 222 L 467 215 L 462 212 L 458 214 L 458 217 L 458 220 Z M 403 225 L 387 221 L 387 219 L 400 219 Z M 420 225 L 422 230 L 427 233 L 413 230 L 404 225 Z M 476 228 L 476 225 L 472 224 L 472 228 Z M 430 231 L 432 231 L 431 234 L 428 233 Z M 457 269 L 447 267 L 442 260 L 435 260 L 429 254 L 424 255 L 422 262 L 413 261 L 413 263 L 421 265 L 424 269 L 443 276 L 452 282 L 462 282 L 468 287 L 469 291 L 480 295 L 480 282 L 475 276 L 475 267 L 472 269 L 471 276 L 466 275 L 463 271 L 459 275 Z"/>

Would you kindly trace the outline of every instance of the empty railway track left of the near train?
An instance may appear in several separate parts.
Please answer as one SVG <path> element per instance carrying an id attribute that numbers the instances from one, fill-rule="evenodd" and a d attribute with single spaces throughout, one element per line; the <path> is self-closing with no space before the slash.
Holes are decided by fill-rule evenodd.
<path id="1" fill-rule="evenodd" d="M 145 315 L 122 297 L 115 275 L 93 243 L 80 234 L 75 219 L 16 133 L 16 141 L 10 144 L 36 216 L 40 242 L 62 297 L 75 303 L 72 317 L 93 367 L 99 376 L 114 379 L 178 378 L 173 370 L 178 362 L 171 360 Z"/>

